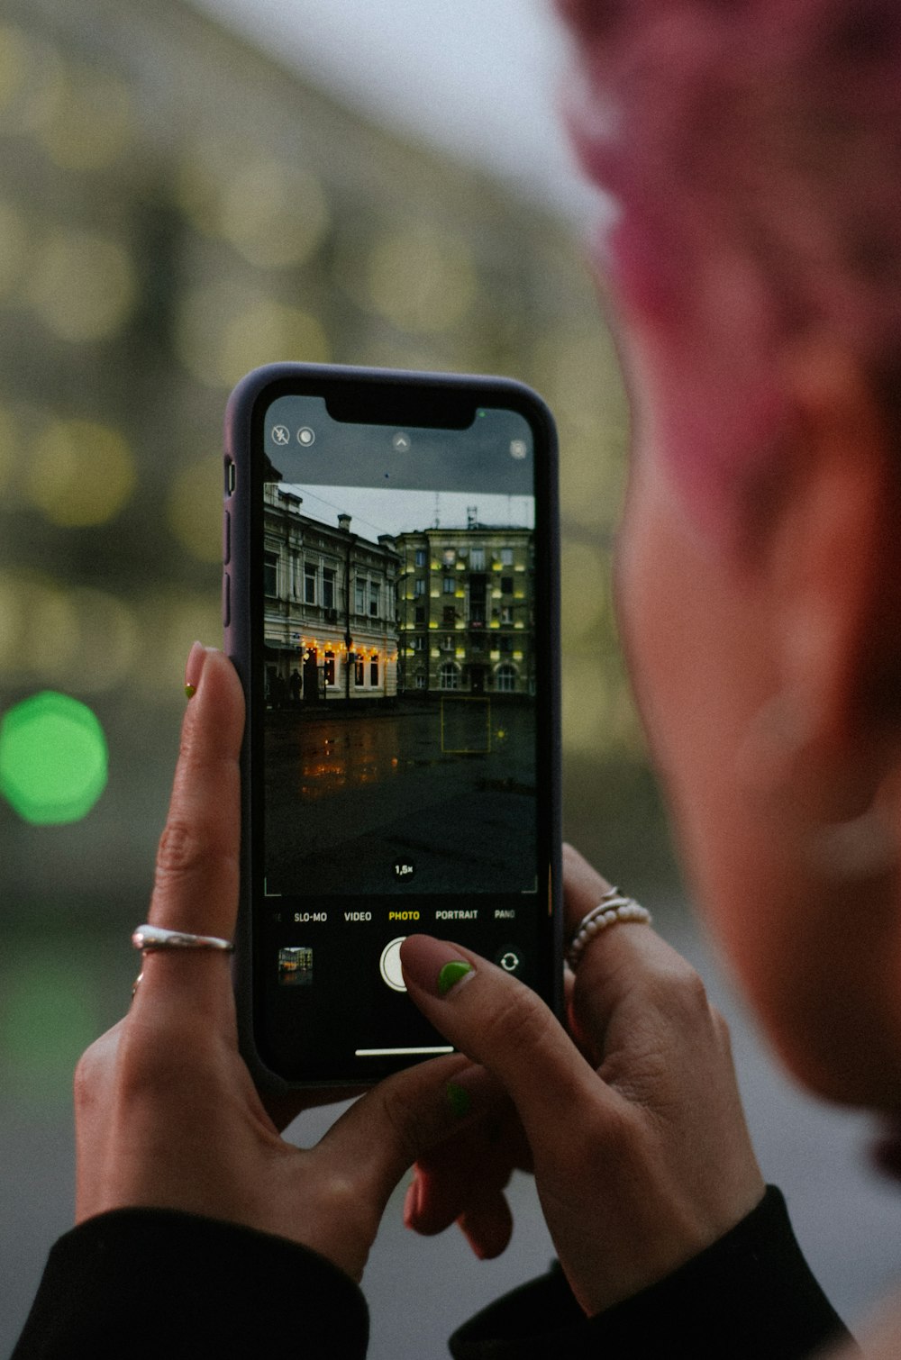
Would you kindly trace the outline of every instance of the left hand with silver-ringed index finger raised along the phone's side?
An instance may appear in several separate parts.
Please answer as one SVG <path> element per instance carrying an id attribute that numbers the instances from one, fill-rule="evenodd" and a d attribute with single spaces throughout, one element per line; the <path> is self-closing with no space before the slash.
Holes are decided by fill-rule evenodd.
<path id="1" fill-rule="evenodd" d="M 244 700 L 218 651 L 196 646 L 186 679 L 196 695 L 150 921 L 231 938 Z M 399 1073 L 301 1151 L 279 1137 L 238 1054 L 227 956 L 148 953 L 128 1016 L 76 1072 L 78 1221 L 135 1205 L 184 1209 L 290 1238 L 359 1278 L 403 1172 L 465 1127 L 448 1083 L 468 1088 L 478 1108 L 479 1073 L 465 1069 L 465 1058 L 452 1055 Z M 284 1122 L 297 1111 L 284 1111 Z"/>

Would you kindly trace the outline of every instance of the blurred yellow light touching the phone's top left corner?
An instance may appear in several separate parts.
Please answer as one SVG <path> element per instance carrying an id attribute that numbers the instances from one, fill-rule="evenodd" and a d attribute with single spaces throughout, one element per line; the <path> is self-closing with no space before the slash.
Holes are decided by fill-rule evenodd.
<path id="1" fill-rule="evenodd" d="M 212 388 L 233 388 L 261 363 L 331 358 L 323 325 L 309 311 L 227 283 L 188 295 L 176 344 L 185 367 Z"/>

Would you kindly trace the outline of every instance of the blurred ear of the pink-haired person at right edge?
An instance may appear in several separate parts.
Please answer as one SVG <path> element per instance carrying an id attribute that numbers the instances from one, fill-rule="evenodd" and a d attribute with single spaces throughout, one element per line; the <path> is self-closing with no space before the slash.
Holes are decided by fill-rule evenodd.
<path id="1" fill-rule="evenodd" d="M 765 787 L 781 762 L 799 812 L 838 823 L 901 770 L 901 449 L 845 348 L 807 337 L 780 373 L 784 464 L 754 551 L 779 688 L 742 764 Z"/>

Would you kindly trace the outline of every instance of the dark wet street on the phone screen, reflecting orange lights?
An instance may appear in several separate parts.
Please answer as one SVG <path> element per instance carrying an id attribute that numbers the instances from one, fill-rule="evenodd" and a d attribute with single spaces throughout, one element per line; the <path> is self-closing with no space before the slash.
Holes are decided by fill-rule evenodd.
<path id="1" fill-rule="evenodd" d="M 487 699 L 388 713 L 267 714 L 269 889 L 509 891 L 535 873 L 531 704 Z"/>

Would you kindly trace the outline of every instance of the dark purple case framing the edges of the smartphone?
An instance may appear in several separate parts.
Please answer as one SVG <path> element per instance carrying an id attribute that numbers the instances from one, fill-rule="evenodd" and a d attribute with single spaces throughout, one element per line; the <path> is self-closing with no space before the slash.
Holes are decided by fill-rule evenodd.
<path id="1" fill-rule="evenodd" d="M 248 715 L 260 702 L 257 680 L 252 666 L 250 636 L 250 562 L 252 562 L 252 438 L 255 416 L 260 401 L 268 403 L 274 394 L 290 390 L 298 381 L 305 385 L 327 381 L 329 388 L 347 384 L 351 393 L 359 385 L 372 385 L 391 401 L 397 396 L 403 409 L 411 401 L 429 403 L 430 409 L 441 404 L 441 394 L 448 397 L 465 392 L 478 392 L 482 397 L 508 396 L 512 401 L 527 404 L 529 412 L 542 422 L 547 443 L 547 466 L 544 484 L 536 486 L 536 498 L 544 502 L 548 532 L 548 577 L 546 589 L 550 593 L 547 668 L 548 706 L 553 714 L 553 737 L 544 763 L 546 778 L 550 781 L 550 884 L 548 910 L 551 913 L 551 938 L 554 962 L 551 968 L 551 993 L 544 1001 L 557 1016 L 562 1013 L 563 963 L 562 963 L 562 865 L 561 865 L 561 749 L 559 749 L 559 514 L 557 499 L 557 428 L 554 419 L 542 398 L 524 384 L 510 378 L 493 378 L 467 374 L 418 373 L 392 369 L 363 369 L 338 364 L 274 363 L 255 369 L 234 388 L 225 415 L 225 506 L 223 506 L 223 577 L 222 577 L 222 617 L 225 630 L 225 651 L 234 664 L 241 684 Z M 279 392 L 280 389 L 280 392 Z M 434 422 L 440 424 L 440 420 Z M 253 929 L 250 891 L 250 787 L 255 777 L 253 755 L 249 740 L 249 721 L 241 751 L 241 898 L 235 932 L 233 959 L 233 982 L 238 1016 L 238 1038 L 241 1054 L 250 1074 L 261 1091 L 286 1092 L 309 1087 L 347 1088 L 347 1080 L 333 1081 L 291 1081 L 282 1077 L 263 1061 L 253 1027 Z M 361 1083 L 361 1085 L 365 1083 Z M 370 1083 L 372 1084 L 372 1083 Z"/>

